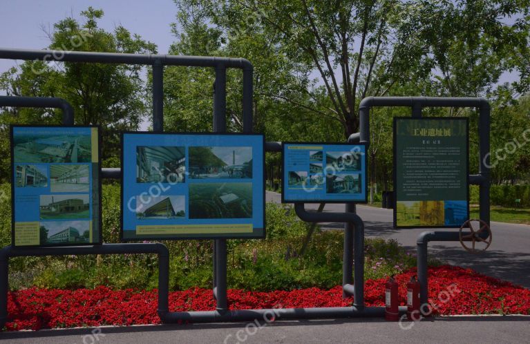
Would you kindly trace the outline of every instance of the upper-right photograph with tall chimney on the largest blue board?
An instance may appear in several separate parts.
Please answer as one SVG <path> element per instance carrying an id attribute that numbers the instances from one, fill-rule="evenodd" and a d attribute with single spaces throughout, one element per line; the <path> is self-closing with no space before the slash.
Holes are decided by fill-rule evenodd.
<path id="1" fill-rule="evenodd" d="M 189 147 L 190 178 L 252 178 L 252 147 Z"/>

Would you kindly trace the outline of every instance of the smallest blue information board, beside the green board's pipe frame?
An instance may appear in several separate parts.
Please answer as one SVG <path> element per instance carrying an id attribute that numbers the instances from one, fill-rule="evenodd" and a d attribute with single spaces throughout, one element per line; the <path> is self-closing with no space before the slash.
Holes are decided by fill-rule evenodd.
<path id="1" fill-rule="evenodd" d="M 283 143 L 282 202 L 366 202 L 366 146 Z"/>

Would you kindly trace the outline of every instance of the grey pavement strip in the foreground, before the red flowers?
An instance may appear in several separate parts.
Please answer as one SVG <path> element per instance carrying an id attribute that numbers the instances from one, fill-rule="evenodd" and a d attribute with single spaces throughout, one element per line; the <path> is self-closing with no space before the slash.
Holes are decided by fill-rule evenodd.
<path id="1" fill-rule="evenodd" d="M 529 316 L 435 318 L 401 329 L 379 319 L 156 325 L 0 333 L 6 343 L 528 343 Z M 410 323 L 404 323 L 404 326 Z M 95 335 L 91 334 L 95 333 Z"/>

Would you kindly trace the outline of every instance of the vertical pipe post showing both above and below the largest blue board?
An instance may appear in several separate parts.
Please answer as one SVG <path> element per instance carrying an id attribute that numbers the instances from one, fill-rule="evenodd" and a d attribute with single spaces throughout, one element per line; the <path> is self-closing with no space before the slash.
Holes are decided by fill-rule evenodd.
<path id="1" fill-rule="evenodd" d="M 223 65 L 216 67 L 216 83 L 214 87 L 214 132 L 227 131 L 227 70 Z M 225 312 L 227 301 L 227 240 L 214 240 L 214 296 L 217 300 L 216 309 Z"/>

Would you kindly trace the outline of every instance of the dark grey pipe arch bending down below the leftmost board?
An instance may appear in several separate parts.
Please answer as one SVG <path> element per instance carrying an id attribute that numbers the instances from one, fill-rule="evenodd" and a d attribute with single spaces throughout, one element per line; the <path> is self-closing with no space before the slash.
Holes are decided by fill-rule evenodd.
<path id="1" fill-rule="evenodd" d="M 0 249 L 0 328 L 8 321 L 9 258 L 27 256 L 69 256 L 88 254 L 157 254 L 158 255 L 158 313 L 169 311 L 169 250 L 166 245 L 102 244 L 81 247 L 19 248 L 6 246 Z"/>

